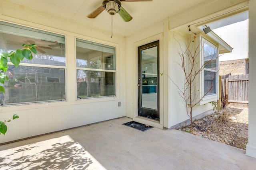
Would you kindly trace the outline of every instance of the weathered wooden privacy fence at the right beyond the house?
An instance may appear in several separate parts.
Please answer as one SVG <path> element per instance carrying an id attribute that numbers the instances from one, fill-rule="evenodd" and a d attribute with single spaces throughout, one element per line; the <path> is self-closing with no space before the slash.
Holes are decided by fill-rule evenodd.
<path id="1" fill-rule="evenodd" d="M 222 76 L 222 107 L 248 107 L 248 74 Z"/>

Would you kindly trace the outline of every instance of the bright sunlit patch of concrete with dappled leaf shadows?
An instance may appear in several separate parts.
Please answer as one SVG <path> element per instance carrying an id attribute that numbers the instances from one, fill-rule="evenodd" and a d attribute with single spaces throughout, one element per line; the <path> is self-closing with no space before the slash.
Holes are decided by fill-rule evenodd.
<path id="1" fill-rule="evenodd" d="M 60 138 L 9 149 L 9 154 L 6 155 L 0 152 L 0 169 L 88 168 L 92 160 L 86 149 L 74 141 L 65 141 Z M 56 141 L 59 142 L 56 143 Z"/>

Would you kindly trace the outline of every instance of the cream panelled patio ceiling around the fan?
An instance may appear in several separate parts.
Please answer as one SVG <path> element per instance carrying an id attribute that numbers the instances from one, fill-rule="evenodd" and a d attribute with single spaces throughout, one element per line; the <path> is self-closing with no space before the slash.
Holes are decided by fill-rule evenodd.
<path id="1" fill-rule="evenodd" d="M 103 11 L 95 19 L 87 15 L 102 5 L 103 0 L 8 0 L 66 20 L 110 32 L 111 16 Z M 119 14 L 113 16 L 113 32 L 128 36 L 168 16 L 173 16 L 205 0 L 152 0 L 144 2 L 122 2 L 122 7 L 133 17 L 124 22 Z"/>

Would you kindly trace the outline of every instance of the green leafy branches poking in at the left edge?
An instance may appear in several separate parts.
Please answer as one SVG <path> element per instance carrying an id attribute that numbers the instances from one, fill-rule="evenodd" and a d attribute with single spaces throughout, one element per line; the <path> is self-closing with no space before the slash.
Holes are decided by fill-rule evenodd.
<path id="1" fill-rule="evenodd" d="M 28 60 L 33 59 L 32 53 L 36 54 L 36 45 L 35 44 L 23 44 L 23 49 L 17 49 L 15 52 L 6 52 L 6 53 L 0 53 L 0 83 L 4 84 L 6 81 L 9 80 L 8 75 L 6 75 L 6 71 L 8 70 L 8 60 L 14 64 L 14 66 L 17 68 L 20 64 L 20 61 L 22 61 L 24 58 Z M 0 92 L 4 93 L 4 87 L 0 85 Z M 14 114 L 12 115 L 11 119 L 8 119 L 6 121 L 0 121 L 0 134 L 4 134 L 7 131 L 7 122 L 10 122 L 11 120 L 18 119 L 19 116 Z"/>

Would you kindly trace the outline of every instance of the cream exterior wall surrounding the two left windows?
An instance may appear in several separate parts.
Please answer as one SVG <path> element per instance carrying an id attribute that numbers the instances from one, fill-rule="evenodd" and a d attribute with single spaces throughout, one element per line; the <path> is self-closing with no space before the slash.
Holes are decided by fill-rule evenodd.
<path id="1" fill-rule="evenodd" d="M 30 8 L 0 3 L 0 20 L 43 29 L 66 36 L 66 99 L 62 102 L 1 106 L 0 120 L 13 114 L 19 119 L 8 123 L 8 131 L 0 143 L 96 123 L 125 113 L 125 38 L 50 16 Z M 47 25 L 47 26 L 46 26 Z M 116 97 L 76 100 L 75 38 L 116 46 Z M 118 107 L 118 102 L 121 106 Z"/>

